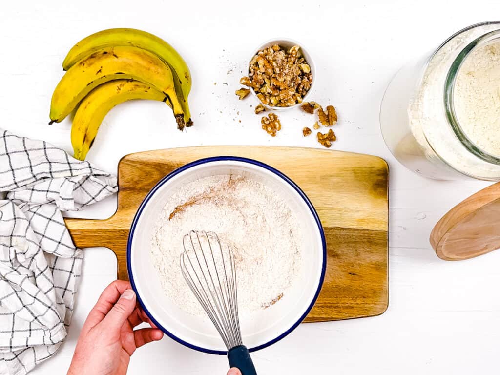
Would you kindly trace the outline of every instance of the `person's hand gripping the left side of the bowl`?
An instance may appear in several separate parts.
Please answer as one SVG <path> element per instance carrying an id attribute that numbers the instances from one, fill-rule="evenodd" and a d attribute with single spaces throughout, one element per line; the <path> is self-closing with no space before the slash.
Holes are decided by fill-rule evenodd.
<path id="1" fill-rule="evenodd" d="M 133 328 L 141 322 L 150 328 Z M 143 344 L 163 337 L 135 304 L 128 281 L 111 282 L 81 328 L 68 375 L 124 375 L 130 355 Z"/>

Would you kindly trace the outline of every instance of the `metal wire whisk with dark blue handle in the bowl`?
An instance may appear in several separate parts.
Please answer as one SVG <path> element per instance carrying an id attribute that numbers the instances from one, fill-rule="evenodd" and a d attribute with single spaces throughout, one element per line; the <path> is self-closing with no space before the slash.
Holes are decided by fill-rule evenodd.
<path id="1" fill-rule="evenodd" d="M 256 375 L 239 327 L 234 254 L 213 232 L 191 230 L 182 240 L 180 270 L 227 347 L 231 367 Z"/>

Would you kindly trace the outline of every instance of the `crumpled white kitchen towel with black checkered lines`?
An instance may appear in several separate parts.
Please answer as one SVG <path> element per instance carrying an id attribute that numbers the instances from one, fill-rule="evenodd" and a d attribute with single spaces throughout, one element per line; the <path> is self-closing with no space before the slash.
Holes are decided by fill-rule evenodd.
<path id="1" fill-rule="evenodd" d="M 0 374 L 25 374 L 66 336 L 82 251 L 60 211 L 117 191 L 116 177 L 0 129 Z"/>

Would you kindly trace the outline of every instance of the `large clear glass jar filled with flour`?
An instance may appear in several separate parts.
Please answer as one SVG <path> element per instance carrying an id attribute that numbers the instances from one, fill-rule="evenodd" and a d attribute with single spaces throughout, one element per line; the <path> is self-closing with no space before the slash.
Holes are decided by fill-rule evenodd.
<path id="1" fill-rule="evenodd" d="M 477 65 L 472 59 L 483 52 L 479 48 L 493 46 L 500 50 L 500 21 L 478 23 L 453 34 L 430 55 L 404 66 L 393 77 L 382 99 L 380 127 L 387 147 L 407 168 L 437 179 L 500 180 L 500 152 L 492 152 L 481 138 L 471 136 L 462 121 L 465 117 L 457 115 L 463 100 L 456 96 L 459 89 L 465 95 L 473 92 L 457 89 L 460 68 Z M 493 68 L 500 75 L 500 64 Z M 500 80 L 493 84 L 498 85 L 500 108 Z M 496 106 L 484 105 L 486 112 L 496 110 Z M 493 146 L 491 136 L 500 139 L 500 118 L 497 121 L 498 127 L 489 124 L 487 133 L 476 131 Z M 482 120 L 476 122 L 484 128 Z M 467 126 L 473 128 L 476 122 Z"/>

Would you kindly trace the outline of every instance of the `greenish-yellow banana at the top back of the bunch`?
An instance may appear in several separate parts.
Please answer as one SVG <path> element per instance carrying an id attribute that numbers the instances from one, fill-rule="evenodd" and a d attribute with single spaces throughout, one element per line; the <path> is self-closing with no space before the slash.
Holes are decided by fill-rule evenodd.
<path id="1" fill-rule="evenodd" d="M 112 46 L 135 46 L 156 54 L 172 69 L 177 98 L 184 112 L 186 126 L 191 126 L 187 95 L 191 90 L 191 73 L 180 54 L 166 41 L 149 32 L 134 28 L 110 28 L 93 33 L 76 43 L 67 53 L 62 68 L 68 70 L 89 54 Z"/>

